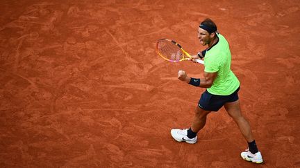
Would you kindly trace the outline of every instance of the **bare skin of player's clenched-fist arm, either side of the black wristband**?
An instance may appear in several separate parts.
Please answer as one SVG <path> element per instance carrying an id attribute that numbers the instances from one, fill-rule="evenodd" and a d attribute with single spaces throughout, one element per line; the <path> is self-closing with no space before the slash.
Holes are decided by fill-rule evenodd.
<path id="1" fill-rule="evenodd" d="M 213 85 L 215 78 L 217 77 L 217 73 L 206 73 L 204 72 L 204 78 L 200 79 L 201 88 L 210 88 Z M 185 73 L 185 71 L 178 71 L 178 79 L 183 82 L 190 82 L 190 77 Z"/>

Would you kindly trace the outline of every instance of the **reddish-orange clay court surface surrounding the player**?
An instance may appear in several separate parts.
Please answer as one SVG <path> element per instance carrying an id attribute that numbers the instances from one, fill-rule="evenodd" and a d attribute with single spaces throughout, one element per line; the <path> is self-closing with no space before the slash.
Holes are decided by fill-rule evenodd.
<path id="1" fill-rule="evenodd" d="M 300 167 L 299 1 L 0 2 L 0 167 Z M 231 45 L 240 101 L 263 165 L 224 109 L 190 127 L 203 65 L 170 63 L 156 40 L 205 49 L 210 17 Z"/>

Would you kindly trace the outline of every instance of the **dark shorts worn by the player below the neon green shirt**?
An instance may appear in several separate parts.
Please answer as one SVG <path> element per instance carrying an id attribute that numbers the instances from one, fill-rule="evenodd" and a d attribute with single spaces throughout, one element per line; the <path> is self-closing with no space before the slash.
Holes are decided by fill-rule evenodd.
<path id="1" fill-rule="evenodd" d="M 213 95 L 206 90 L 202 93 L 198 106 L 206 111 L 218 111 L 227 102 L 238 100 L 238 91 L 240 87 L 231 95 Z"/>

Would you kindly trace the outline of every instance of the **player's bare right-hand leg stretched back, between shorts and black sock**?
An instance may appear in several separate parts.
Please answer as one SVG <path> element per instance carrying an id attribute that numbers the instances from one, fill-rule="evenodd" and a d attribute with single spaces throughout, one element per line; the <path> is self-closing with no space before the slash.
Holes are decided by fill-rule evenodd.
<path id="1" fill-rule="evenodd" d="M 240 131 L 244 136 L 244 138 L 248 142 L 252 142 L 254 139 L 253 139 L 251 127 L 249 122 L 242 115 L 240 109 L 240 101 L 237 100 L 235 102 L 226 103 L 224 104 L 224 107 L 228 112 L 228 114 L 231 116 L 231 118 L 233 118 L 233 120 L 238 124 L 238 127 L 240 128 Z"/>

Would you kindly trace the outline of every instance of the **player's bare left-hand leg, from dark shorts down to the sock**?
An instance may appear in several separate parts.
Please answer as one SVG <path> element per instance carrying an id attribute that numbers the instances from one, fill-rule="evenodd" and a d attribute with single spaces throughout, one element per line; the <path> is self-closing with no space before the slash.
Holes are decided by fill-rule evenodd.
<path id="1" fill-rule="evenodd" d="M 194 121 L 192 122 L 192 131 L 197 133 L 200 131 L 206 124 L 206 116 L 210 113 L 210 111 L 205 111 L 201 109 L 199 106 L 197 107 Z"/>

